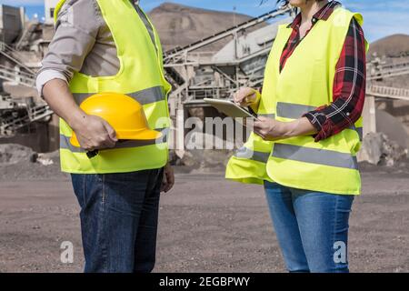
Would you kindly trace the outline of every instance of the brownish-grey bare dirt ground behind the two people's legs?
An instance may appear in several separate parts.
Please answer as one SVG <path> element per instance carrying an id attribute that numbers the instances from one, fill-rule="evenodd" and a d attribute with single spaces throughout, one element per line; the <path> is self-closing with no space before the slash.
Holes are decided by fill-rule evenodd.
<path id="1" fill-rule="evenodd" d="M 46 178 L 46 177 L 45 177 Z M 178 174 L 163 196 L 156 272 L 285 272 L 264 192 L 223 174 Z M 354 202 L 352 272 L 409 272 L 409 172 L 366 169 Z M 0 272 L 81 272 L 78 207 L 69 180 L 0 182 Z M 60 261 L 63 241 L 74 263 Z"/>

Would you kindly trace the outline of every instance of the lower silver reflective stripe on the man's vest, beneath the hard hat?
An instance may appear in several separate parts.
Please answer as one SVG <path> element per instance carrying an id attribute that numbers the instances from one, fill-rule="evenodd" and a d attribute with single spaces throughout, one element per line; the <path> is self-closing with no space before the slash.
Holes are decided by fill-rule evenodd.
<path id="1" fill-rule="evenodd" d="M 156 129 L 157 131 L 162 132 L 162 136 L 157 139 L 157 140 L 125 140 L 125 141 L 119 141 L 116 143 L 115 147 L 110 148 L 110 149 L 116 149 L 116 148 L 131 148 L 131 147 L 141 147 L 141 146 L 152 146 L 152 145 L 158 145 L 158 144 L 163 144 L 167 142 L 167 137 L 169 135 L 169 128 L 162 128 L 162 129 Z M 85 149 L 81 147 L 76 147 L 71 145 L 70 143 L 70 137 L 65 136 L 65 135 L 60 135 L 60 148 L 68 149 L 73 153 L 85 153 Z"/>

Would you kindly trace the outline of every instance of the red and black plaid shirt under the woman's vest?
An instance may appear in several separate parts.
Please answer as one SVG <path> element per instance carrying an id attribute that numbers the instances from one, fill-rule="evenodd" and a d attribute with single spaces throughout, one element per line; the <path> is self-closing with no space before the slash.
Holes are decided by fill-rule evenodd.
<path id="1" fill-rule="evenodd" d="M 341 4 L 331 1 L 317 12 L 313 17 L 311 29 L 318 21 L 327 20 L 338 5 Z M 303 40 L 300 39 L 300 24 L 301 15 L 297 15 L 294 22 L 289 25 L 289 27 L 293 28 L 293 32 L 284 47 L 280 70 L 283 69 L 286 60 L 293 54 L 295 47 Z M 311 29 L 305 35 L 308 35 Z M 362 115 L 366 89 L 365 64 L 364 31 L 353 19 L 345 38 L 344 48 L 336 65 L 333 102 L 304 115 L 318 131 L 318 134 L 314 135 L 316 142 L 331 135 L 336 135 L 345 128 L 354 125 Z"/>

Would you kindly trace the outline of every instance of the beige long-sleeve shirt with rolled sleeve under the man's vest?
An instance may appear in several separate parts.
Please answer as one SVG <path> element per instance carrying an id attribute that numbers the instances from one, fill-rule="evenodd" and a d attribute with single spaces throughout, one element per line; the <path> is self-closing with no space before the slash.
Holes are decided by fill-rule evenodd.
<path id="1" fill-rule="evenodd" d="M 129 1 L 155 41 L 153 27 L 137 1 Z M 69 83 L 75 72 L 109 76 L 116 75 L 119 68 L 115 41 L 97 1 L 67 0 L 58 13 L 55 35 L 37 73 L 39 94 L 47 82 L 56 78 Z"/>

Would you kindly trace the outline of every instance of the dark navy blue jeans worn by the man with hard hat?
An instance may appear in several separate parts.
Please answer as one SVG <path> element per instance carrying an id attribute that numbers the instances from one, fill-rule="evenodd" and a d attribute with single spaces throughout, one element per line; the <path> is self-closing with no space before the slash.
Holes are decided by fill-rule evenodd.
<path id="1" fill-rule="evenodd" d="M 72 175 L 86 273 L 153 270 L 162 176 L 162 169 Z"/>

